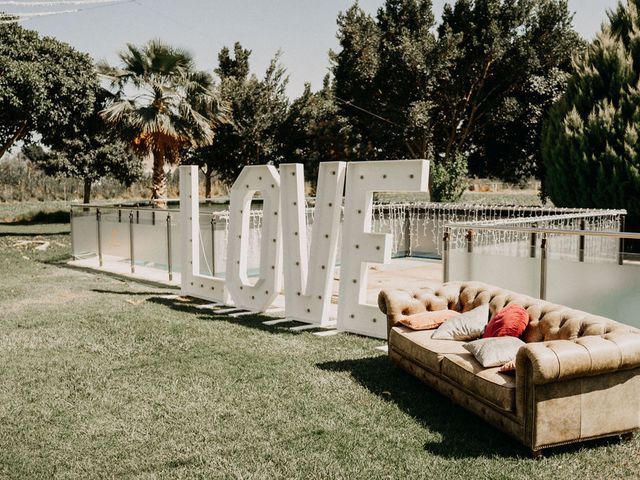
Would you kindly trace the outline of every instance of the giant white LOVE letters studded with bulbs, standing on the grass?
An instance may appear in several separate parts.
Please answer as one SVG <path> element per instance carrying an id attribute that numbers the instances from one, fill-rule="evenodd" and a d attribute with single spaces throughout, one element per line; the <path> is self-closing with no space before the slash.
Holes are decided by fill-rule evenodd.
<path id="1" fill-rule="evenodd" d="M 287 318 L 330 325 L 333 269 L 343 215 L 337 327 L 386 337 L 384 315 L 365 302 L 369 263 L 391 260 L 391 234 L 371 233 L 373 193 L 426 191 L 427 161 L 321 163 L 310 245 L 302 165 L 282 164 L 279 174 L 271 165 L 245 167 L 231 189 L 224 278 L 200 274 L 197 178 L 197 167 L 180 167 L 183 295 L 265 311 L 283 293 L 284 280 Z M 251 199 L 256 192 L 261 193 L 264 204 L 260 274 L 252 280 L 246 259 Z"/>

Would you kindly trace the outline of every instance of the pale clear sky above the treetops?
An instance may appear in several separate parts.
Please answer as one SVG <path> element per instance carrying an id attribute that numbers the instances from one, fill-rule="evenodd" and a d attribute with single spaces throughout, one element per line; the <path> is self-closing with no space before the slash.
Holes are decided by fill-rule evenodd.
<path id="1" fill-rule="evenodd" d="M 36 0 L 19 1 L 27 5 Z M 576 29 L 593 38 L 606 10 L 617 1 L 569 0 L 575 12 Z M 16 13 L 82 8 L 77 13 L 31 18 L 23 25 L 68 42 L 96 60 L 111 63 L 117 61 L 116 54 L 126 43 L 142 44 L 151 38 L 161 38 L 191 51 L 198 66 L 211 71 L 220 49 L 240 41 L 253 51 L 252 71 L 262 75 L 270 58 L 280 49 L 290 77 L 288 94 L 294 98 L 302 92 L 305 82 L 311 82 L 314 89 L 321 87 L 329 67 L 327 52 L 337 48 L 338 12 L 353 1 L 128 0 L 110 6 L 84 7 L 68 4 L 23 7 L 11 3 L 16 2 L 0 0 L 0 10 Z M 371 14 L 383 3 L 384 0 L 360 0 L 361 7 Z M 445 3 L 447 0 L 433 0 L 436 18 Z"/>

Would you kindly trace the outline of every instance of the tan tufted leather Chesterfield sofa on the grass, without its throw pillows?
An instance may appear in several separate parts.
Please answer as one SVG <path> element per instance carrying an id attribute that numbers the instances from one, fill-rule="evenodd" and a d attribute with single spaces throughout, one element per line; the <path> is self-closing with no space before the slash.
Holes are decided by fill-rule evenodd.
<path id="1" fill-rule="evenodd" d="M 483 368 L 464 342 L 433 340 L 433 330 L 397 325 L 427 310 L 466 312 L 510 303 L 529 312 L 515 375 Z M 383 290 L 389 356 L 455 403 L 517 438 L 534 455 L 544 448 L 640 428 L 640 330 L 579 310 L 479 282 L 417 291 Z"/>

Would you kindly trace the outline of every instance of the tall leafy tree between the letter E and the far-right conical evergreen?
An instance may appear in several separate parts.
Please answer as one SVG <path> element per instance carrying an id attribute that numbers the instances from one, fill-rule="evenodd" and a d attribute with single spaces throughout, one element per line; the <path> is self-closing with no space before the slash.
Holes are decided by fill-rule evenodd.
<path id="1" fill-rule="evenodd" d="M 517 181 L 536 174 L 543 116 L 582 47 L 566 0 L 457 0 L 438 27 L 453 62 L 434 90 L 434 139 L 445 159 Z"/>

